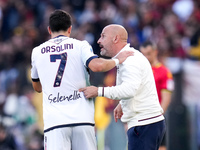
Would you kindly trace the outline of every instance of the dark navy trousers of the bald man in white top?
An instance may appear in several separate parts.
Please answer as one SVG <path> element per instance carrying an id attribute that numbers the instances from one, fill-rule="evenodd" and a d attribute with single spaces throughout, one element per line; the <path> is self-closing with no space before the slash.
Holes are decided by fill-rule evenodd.
<path id="1" fill-rule="evenodd" d="M 158 150 L 165 133 L 165 121 L 132 127 L 128 130 L 128 150 Z"/>

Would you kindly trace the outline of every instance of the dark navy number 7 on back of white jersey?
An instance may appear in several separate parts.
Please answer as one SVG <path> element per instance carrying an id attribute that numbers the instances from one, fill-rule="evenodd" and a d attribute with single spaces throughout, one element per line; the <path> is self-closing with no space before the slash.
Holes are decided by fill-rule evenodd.
<path id="1" fill-rule="evenodd" d="M 50 62 L 56 62 L 57 59 L 60 59 L 61 61 L 58 67 L 58 71 L 56 73 L 56 78 L 53 85 L 54 87 L 59 87 L 61 84 L 61 80 L 62 80 L 63 73 L 65 70 L 66 62 L 67 62 L 67 53 L 50 55 Z"/>

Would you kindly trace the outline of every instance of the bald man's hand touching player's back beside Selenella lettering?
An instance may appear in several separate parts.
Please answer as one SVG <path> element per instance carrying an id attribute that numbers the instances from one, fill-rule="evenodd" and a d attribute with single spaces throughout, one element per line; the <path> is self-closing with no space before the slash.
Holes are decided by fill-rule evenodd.
<path id="1" fill-rule="evenodd" d="M 79 92 L 83 92 L 86 98 L 92 98 L 98 96 L 98 88 L 95 86 L 88 86 L 79 89 Z"/>

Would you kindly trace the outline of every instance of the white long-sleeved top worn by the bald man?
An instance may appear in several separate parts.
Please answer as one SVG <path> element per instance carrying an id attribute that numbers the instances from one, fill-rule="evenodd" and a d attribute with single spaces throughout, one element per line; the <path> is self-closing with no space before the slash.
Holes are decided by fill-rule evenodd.
<path id="1" fill-rule="evenodd" d="M 104 96 L 120 100 L 123 110 L 121 120 L 127 122 L 128 128 L 163 120 L 163 109 L 149 61 L 129 44 L 121 51 L 124 50 L 134 51 L 134 56 L 129 56 L 117 66 L 116 86 L 105 87 Z"/>

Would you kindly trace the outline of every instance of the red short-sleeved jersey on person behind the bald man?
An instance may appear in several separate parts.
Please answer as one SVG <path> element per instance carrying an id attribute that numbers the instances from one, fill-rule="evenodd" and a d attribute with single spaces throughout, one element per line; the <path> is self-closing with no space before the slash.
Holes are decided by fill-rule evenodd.
<path id="1" fill-rule="evenodd" d="M 161 103 L 161 91 L 167 90 L 172 92 L 174 89 L 174 81 L 171 72 L 161 63 L 157 63 L 152 67 L 155 78 L 159 102 Z"/>

